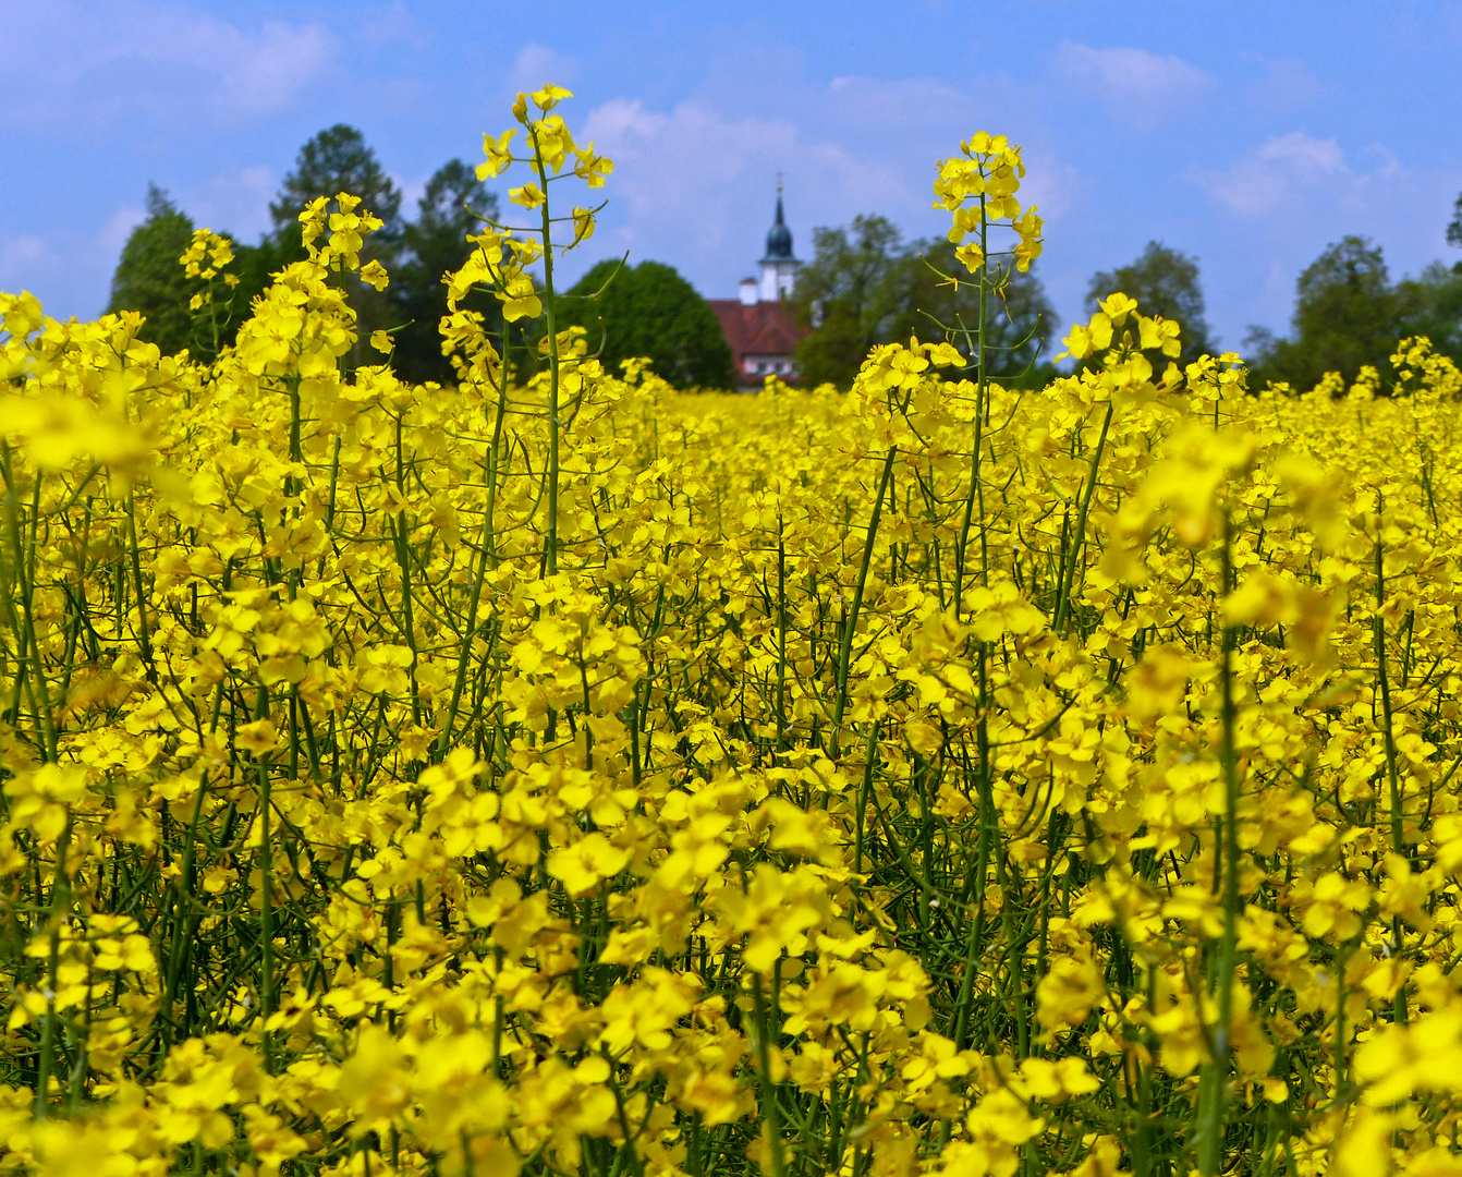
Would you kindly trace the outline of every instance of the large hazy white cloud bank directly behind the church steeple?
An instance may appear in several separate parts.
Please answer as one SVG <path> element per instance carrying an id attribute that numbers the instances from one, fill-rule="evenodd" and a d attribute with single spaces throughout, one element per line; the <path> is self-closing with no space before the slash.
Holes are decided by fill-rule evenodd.
<path id="1" fill-rule="evenodd" d="M 708 297 L 731 297 L 762 254 L 778 173 L 803 259 L 813 256 L 814 227 L 858 213 L 882 213 L 911 238 L 943 234 L 947 213 L 931 209 L 937 159 L 982 126 L 1018 142 L 1031 132 L 1039 139 L 1019 85 L 1007 80 L 969 92 L 928 77 L 839 76 L 787 88 L 785 101 L 759 114 L 730 114 L 746 104 L 727 98 L 670 108 L 629 96 L 602 102 L 579 137 L 614 159 L 610 208 L 576 265 L 630 250 L 632 262 L 667 262 Z M 1022 200 L 1060 219 L 1079 202 L 1083 178 L 1039 142 L 1026 162 Z"/>

